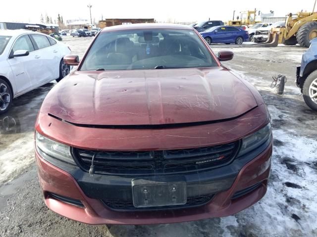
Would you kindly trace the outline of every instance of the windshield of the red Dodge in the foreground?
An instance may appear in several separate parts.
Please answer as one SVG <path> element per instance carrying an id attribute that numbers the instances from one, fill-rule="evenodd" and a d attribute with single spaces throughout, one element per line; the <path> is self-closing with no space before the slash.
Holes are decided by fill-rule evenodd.
<path id="1" fill-rule="evenodd" d="M 99 35 L 80 70 L 132 70 L 217 66 L 192 30 L 131 30 Z"/>

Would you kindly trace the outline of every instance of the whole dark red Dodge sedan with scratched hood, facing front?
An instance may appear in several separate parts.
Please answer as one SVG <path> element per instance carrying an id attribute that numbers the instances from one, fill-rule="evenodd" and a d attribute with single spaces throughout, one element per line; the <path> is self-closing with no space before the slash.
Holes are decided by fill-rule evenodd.
<path id="1" fill-rule="evenodd" d="M 45 98 L 35 156 L 46 205 L 88 224 L 223 217 L 259 201 L 272 154 L 259 92 L 182 25 L 107 27 Z"/>

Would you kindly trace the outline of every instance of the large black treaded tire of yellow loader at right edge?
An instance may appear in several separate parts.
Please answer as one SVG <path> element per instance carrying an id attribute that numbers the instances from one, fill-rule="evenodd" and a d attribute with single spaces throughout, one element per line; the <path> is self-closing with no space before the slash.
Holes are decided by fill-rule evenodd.
<path id="1" fill-rule="evenodd" d="M 299 28 L 296 39 L 299 45 L 301 47 L 308 48 L 311 43 L 309 41 L 313 40 L 314 38 L 317 38 L 317 22 L 312 21 L 304 24 Z"/>

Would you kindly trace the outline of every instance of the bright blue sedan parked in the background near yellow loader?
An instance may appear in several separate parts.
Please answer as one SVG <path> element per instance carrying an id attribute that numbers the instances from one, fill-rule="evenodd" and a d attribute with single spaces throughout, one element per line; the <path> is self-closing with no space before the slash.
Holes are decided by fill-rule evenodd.
<path id="1" fill-rule="evenodd" d="M 245 41 L 249 41 L 248 32 L 234 26 L 214 26 L 204 32 L 200 32 L 200 34 L 208 44 L 242 44 Z"/>

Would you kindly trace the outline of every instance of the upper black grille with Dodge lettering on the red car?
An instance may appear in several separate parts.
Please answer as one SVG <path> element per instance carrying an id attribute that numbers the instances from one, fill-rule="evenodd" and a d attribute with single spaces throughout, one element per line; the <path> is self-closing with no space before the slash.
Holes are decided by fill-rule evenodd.
<path id="1" fill-rule="evenodd" d="M 156 175 L 193 172 L 226 165 L 232 161 L 239 143 L 212 147 L 164 151 L 88 151 L 72 149 L 79 166 L 88 172 L 95 154 L 95 173 Z"/>

